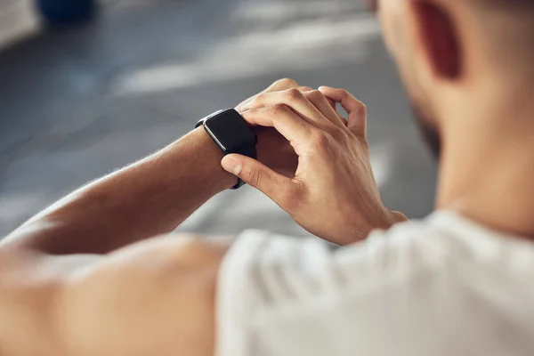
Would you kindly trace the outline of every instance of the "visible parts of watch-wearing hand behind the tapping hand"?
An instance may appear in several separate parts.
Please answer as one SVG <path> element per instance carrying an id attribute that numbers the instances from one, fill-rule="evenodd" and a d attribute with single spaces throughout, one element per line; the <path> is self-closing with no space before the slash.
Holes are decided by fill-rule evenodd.
<path id="1" fill-rule="evenodd" d="M 242 101 L 235 109 L 238 110 L 239 113 L 242 113 L 241 107 L 254 101 L 259 95 L 263 93 L 275 93 L 287 89 L 298 89 L 301 92 L 312 90 L 309 86 L 298 85 L 293 79 L 284 78 L 274 82 L 262 93 L 258 93 L 248 98 L 246 101 Z M 286 138 L 271 127 L 256 126 L 254 129 L 258 136 L 258 144 L 256 145 L 258 160 L 262 162 L 263 165 L 270 167 L 273 171 L 279 174 L 291 178 L 294 177 L 298 157 Z"/>

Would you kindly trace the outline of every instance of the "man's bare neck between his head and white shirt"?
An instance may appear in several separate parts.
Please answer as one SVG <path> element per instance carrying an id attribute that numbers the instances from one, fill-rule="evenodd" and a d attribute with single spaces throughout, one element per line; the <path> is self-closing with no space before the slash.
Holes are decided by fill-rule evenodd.
<path id="1" fill-rule="evenodd" d="M 504 103 L 480 91 L 481 101 L 449 110 L 437 206 L 534 239 L 534 91 L 524 89 Z"/>

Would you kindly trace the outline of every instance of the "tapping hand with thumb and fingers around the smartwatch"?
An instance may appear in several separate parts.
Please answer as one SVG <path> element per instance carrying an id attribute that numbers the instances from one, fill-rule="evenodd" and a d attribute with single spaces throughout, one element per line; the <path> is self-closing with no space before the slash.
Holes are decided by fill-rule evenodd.
<path id="1" fill-rule="evenodd" d="M 348 121 L 327 98 L 341 103 Z M 348 244 L 405 219 L 382 203 L 369 160 L 366 107 L 350 93 L 289 89 L 263 93 L 241 109 L 249 124 L 274 127 L 290 142 L 298 155 L 295 177 L 240 155 L 223 158 L 223 168 L 262 190 L 304 229 Z"/>

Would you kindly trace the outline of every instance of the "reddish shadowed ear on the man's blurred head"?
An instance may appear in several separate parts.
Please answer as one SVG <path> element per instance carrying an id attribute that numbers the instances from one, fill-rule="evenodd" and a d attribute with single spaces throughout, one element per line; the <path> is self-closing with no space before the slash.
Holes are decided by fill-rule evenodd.
<path id="1" fill-rule="evenodd" d="M 454 80 L 462 73 L 462 51 L 451 14 L 433 0 L 411 1 L 417 40 L 438 77 Z"/>

